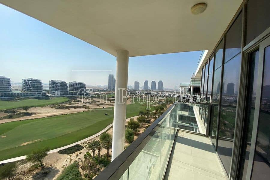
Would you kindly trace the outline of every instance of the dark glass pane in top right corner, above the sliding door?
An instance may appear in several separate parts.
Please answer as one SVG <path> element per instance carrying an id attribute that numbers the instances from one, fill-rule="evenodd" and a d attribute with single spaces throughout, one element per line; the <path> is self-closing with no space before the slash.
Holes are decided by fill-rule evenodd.
<path id="1" fill-rule="evenodd" d="M 269 0 L 247 2 L 247 44 L 270 26 Z"/>

